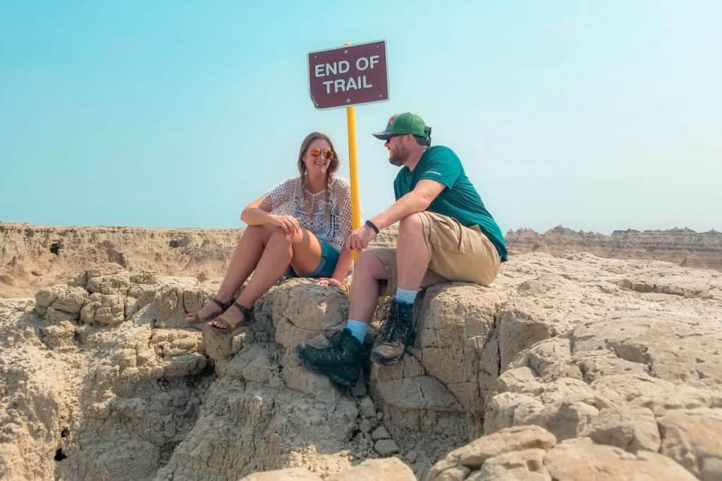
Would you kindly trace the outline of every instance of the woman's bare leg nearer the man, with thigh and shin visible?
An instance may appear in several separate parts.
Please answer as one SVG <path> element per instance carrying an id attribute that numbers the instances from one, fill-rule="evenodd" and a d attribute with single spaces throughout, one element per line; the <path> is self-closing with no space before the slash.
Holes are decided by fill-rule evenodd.
<path id="1" fill-rule="evenodd" d="M 300 229 L 296 234 L 286 234 L 283 229 L 277 228 L 264 246 L 251 281 L 248 281 L 236 301 L 247 309 L 253 309 L 253 304 L 279 280 L 289 265 L 298 275 L 303 276 L 313 273 L 320 260 L 321 242 L 310 231 Z M 233 324 L 240 321 L 241 313 L 231 307 L 224 317 Z M 210 324 L 223 327 L 214 321 Z"/>

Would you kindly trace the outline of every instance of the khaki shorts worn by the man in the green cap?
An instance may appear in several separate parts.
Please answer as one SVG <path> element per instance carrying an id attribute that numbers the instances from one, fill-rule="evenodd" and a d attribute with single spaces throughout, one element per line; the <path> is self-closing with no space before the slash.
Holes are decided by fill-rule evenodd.
<path id="1" fill-rule="evenodd" d="M 499 273 L 501 258 L 494 244 L 482 233 L 479 226 L 464 227 L 440 213 L 419 212 L 424 225 L 424 239 L 431 260 L 421 288 L 441 282 L 461 281 L 489 286 Z M 396 249 L 368 250 L 378 257 L 388 272 L 386 293 L 396 292 Z"/>

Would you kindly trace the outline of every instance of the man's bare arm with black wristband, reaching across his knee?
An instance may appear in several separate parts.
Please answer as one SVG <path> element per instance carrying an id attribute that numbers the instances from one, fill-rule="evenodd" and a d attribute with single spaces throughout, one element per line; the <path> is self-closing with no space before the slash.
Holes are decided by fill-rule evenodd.
<path id="1" fill-rule="evenodd" d="M 425 211 L 445 187 L 441 182 L 435 180 L 419 180 L 414 190 L 396 200 L 386 211 L 373 216 L 370 221 L 378 229 L 384 229 L 412 213 Z M 353 250 L 363 250 L 375 237 L 375 231 L 364 224 L 349 235 L 349 246 Z"/>

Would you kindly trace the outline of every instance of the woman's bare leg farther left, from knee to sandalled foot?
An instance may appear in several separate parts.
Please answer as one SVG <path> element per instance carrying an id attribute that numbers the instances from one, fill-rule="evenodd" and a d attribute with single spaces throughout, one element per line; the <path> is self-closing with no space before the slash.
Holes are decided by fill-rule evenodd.
<path id="1" fill-rule="evenodd" d="M 245 282 L 253 272 L 264 252 L 264 246 L 271 238 L 276 228 L 274 226 L 248 226 L 238 240 L 230 264 L 226 270 L 225 277 L 218 289 L 215 298 L 221 302 L 228 302 L 233 299 L 233 294 Z M 201 309 L 201 318 L 218 314 L 221 308 L 214 302 L 209 302 Z M 191 319 L 188 316 L 187 319 Z"/>

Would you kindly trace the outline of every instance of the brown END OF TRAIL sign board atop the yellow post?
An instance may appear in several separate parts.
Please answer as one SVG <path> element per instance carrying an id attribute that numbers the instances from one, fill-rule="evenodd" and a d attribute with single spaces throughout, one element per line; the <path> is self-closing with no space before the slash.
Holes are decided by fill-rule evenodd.
<path id="1" fill-rule="evenodd" d="M 386 42 L 311 52 L 308 81 L 317 109 L 388 100 Z"/>

